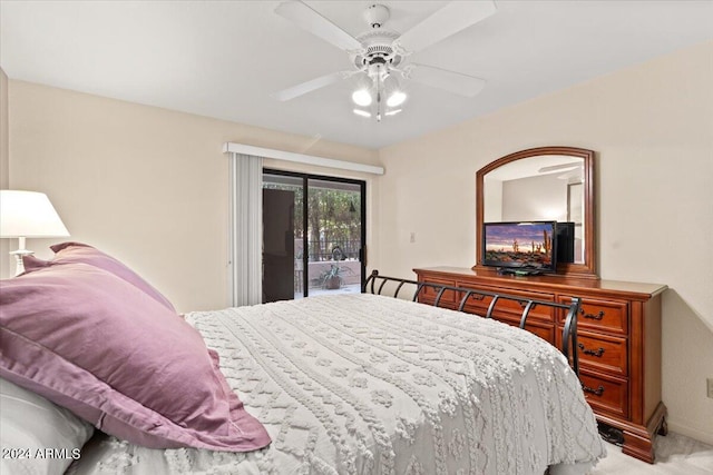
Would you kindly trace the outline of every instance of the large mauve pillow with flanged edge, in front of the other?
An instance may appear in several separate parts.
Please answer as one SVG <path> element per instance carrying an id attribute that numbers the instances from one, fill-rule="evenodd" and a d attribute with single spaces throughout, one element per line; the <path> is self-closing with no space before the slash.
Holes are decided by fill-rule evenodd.
<path id="1" fill-rule="evenodd" d="M 126 280 L 64 264 L 1 286 L 1 377 L 146 447 L 270 444 L 198 331 Z"/>

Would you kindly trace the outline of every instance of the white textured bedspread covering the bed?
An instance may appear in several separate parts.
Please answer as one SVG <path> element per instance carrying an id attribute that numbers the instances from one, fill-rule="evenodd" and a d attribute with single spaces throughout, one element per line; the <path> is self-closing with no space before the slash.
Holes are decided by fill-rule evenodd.
<path id="1" fill-rule="evenodd" d="M 605 454 L 564 356 L 495 320 L 363 294 L 186 318 L 272 445 L 156 451 L 109 437 L 69 473 L 514 475 L 582 472 Z"/>

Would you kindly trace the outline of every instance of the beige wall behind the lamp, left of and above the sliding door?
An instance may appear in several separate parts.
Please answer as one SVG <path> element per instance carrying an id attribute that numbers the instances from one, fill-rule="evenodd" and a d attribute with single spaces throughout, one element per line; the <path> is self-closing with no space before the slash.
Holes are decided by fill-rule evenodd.
<path id="1" fill-rule="evenodd" d="M 11 80 L 9 96 L 11 187 L 46 192 L 70 239 L 125 261 L 179 311 L 228 303 L 226 141 L 375 164 L 370 150 L 33 83 Z M 28 248 L 49 258 L 59 240 Z"/>

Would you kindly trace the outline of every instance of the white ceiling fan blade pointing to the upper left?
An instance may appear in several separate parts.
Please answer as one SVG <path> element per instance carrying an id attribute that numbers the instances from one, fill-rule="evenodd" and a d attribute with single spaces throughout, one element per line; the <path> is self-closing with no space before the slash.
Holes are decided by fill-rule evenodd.
<path id="1" fill-rule="evenodd" d="M 361 49 L 361 43 L 351 34 L 299 0 L 283 1 L 275 9 L 275 13 L 340 49 L 345 51 Z"/>

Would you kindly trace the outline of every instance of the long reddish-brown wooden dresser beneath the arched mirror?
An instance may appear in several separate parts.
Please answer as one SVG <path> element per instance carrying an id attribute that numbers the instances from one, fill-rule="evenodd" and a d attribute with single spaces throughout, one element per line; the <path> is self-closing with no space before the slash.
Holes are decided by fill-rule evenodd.
<path id="1" fill-rule="evenodd" d="M 469 268 L 413 269 L 419 281 L 477 288 L 528 298 L 568 303 L 582 297 L 578 318 L 580 380 L 587 402 L 603 427 L 613 428 L 623 452 L 653 463 L 653 442 L 665 434 L 666 408 L 661 400 L 661 296 L 665 285 L 575 279 L 564 276 L 502 276 Z M 427 290 L 420 298 L 432 303 Z M 455 308 L 460 297 L 446 293 L 441 306 Z M 489 305 L 470 300 L 465 310 L 485 315 Z M 497 307 L 494 318 L 518 325 L 516 303 Z M 530 331 L 559 346 L 564 313 L 533 309 Z"/>

